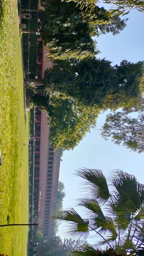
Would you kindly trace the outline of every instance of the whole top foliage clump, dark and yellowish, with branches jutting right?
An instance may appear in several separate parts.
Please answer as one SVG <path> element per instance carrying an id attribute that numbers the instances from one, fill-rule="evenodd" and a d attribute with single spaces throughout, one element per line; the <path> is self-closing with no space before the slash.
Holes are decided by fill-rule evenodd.
<path id="1" fill-rule="evenodd" d="M 78 1 L 60 0 L 43 0 L 42 5 L 46 9 L 45 15 L 41 17 L 42 35 L 49 59 L 82 60 L 94 57 L 99 53 L 96 41 L 92 39 L 96 32 L 104 34 L 104 31 L 112 31 L 117 34 L 126 26 L 126 20 L 112 18 L 112 13 L 96 5 L 88 8 L 81 7 Z"/>

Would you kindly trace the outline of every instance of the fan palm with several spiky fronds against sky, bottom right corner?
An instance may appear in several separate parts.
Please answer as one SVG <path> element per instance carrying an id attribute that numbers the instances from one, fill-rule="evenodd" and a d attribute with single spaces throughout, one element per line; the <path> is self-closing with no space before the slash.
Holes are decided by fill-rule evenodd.
<path id="1" fill-rule="evenodd" d="M 144 185 L 133 175 L 117 170 L 107 184 L 101 170 L 80 169 L 77 175 L 87 181 L 88 198 L 79 200 L 87 215 L 82 218 L 73 208 L 61 211 L 57 219 L 70 224 L 69 233 L 87 238 L 95 235 L 96 246 L 85 244 L 73 255 L 144 255 Z"/>

